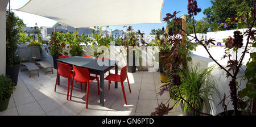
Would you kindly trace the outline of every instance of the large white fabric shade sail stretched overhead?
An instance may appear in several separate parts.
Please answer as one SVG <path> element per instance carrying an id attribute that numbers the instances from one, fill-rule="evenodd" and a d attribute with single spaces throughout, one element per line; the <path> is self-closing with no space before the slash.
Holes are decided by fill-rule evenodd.
<path id="1" fill-rule="evenodd" d="M 162 23 L 163 3 L 164 0 L 30 0 L 18 11 L 80 28 Z"/>

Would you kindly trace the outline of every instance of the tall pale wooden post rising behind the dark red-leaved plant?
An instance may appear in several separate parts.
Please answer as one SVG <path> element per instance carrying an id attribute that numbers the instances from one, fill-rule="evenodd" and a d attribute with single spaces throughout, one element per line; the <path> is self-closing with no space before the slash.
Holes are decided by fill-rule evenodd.
<path id="1" fill-rule="evenodd" d="M 187 31 L 187 29 L 186 29 L 186 20 L 187 20 L 187 18 L 186 18 L 185 14 L 182 15 L 182 19 L 183 19 L 182 20 L 182 29 L 184 31 Z M 182 45 L 186 46 L 185 45 L 186 33 L 184 31 L 182 31 Z M 183 59 L 182 66 L 184 68 L 184 67 L 187 67 L 187 54 L 185 54 L 185 52 L 183 52 L 183 53 L 184 53 L 184 57 L 182 58 Z"/>

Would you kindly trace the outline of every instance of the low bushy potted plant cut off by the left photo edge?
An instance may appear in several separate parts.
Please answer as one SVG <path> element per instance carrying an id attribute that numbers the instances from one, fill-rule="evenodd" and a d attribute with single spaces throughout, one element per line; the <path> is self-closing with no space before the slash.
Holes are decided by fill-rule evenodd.
<path id="1" fill-rule="evenodd" d="M 8 76 L 0 75 L 0 112 L 7 109 L 11 95 L 15 90 L 14 85 Z"/>

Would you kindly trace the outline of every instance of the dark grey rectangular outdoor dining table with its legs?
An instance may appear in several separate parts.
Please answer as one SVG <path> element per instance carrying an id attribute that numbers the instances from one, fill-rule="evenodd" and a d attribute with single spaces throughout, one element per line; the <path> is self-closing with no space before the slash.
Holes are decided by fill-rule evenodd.
<path id="1" fill-rule="evenodd" d="M 98 63 L 98 60 L 102 61 Z M 115 74 L 118 73 L 118 61 L 113 60 L 105 60 L 105 59 L 96 59 L 96 58 L 87 58 L 87 57 L 79 57 L 73 56 L 68 58 L 57 59 L 64 64 L 74 65 L 78 67 L 84 67 L 89 70 L 90 73 L 96 73 L 100 75 L 100 105 L 104 106 L 104 74 L 115 67 Z M 58 77 L 57 84 L 60 84 Z M 115 88 L 117 88 L 117 82 L 115 82 Z"/>

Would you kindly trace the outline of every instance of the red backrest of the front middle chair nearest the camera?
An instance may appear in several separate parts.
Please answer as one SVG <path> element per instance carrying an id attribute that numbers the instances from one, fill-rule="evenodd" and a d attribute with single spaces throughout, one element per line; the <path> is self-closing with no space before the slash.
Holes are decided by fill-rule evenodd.
<path id="1" fill-rule="evenodd" d="M 90 79 L 90 73 L 88 69 L 73 66 L 73 70 L 74 70 L 73 77 L 77 82 L 85 83 L 88 81 L 88 79 Z"/>

